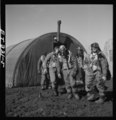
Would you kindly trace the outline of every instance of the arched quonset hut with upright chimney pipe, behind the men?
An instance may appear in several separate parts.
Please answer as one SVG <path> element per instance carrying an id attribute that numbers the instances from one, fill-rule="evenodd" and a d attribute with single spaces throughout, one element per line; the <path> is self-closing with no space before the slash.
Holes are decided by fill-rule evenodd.
<path id="1" fill-rule="evenodd" d="M 54 38 L 57 38 L 54 39 Z M 38 59 L 42 54 L 53 51 L 54 46 L 64 44 L 75 55 L 83 45 L 74 37 L 66 33 L 47 33 L 35 39 L 28 39 L 6 49 L 6 87 L 36 86 L 40 84 L 40 75 L 37 73 Z"/>

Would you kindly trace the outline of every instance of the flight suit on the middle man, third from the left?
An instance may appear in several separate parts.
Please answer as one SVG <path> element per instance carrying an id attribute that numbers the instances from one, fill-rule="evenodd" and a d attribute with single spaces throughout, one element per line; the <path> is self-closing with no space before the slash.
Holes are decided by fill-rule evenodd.
<path id="1" fill-rule="evenodd" d="M 76 72 L 77 72 L 77 61 L 72 54 L 61 55 L 62 62 L 62 73 L 65 81 L 65 87 L 69 95 L 76 95 Z"/>

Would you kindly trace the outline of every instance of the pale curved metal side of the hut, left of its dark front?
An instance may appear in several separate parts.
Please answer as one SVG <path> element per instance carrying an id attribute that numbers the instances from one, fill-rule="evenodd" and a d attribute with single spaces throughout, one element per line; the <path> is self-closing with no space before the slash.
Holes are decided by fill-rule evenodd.
<path id="1" fill-rule="evenodd" d="M 10 51 L 6 56 L 6 87 L 13 86 L 14 69 L 21 53 L 33 40 L 21 42 Z"/>

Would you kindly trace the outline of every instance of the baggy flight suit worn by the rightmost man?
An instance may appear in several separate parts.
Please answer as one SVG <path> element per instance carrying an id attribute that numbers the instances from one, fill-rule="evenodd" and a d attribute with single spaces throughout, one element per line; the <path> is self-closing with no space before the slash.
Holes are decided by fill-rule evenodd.
<path id="1" fill-rule="evenodd" d="M 94 96 L 96 94 L 95 87 L 98 90 L 99 96 L 104 97 L 105 91 L 105 80 L 103 77 L 107 77 L 108 62 L 104 54 L 100 51 L 98 54 L 90 55 L 90 68 L 91 77 L 86 78 L 86 87 L 88 96 Z M 89 73 L 89 76 L 90 76 Z M 92 100 L 94 97 L 89 97 L 88 100 Z"/>

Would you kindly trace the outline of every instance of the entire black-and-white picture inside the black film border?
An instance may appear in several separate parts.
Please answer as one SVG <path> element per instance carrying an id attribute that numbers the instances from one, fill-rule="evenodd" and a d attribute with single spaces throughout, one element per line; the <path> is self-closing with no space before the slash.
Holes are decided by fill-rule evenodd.
<path id="1" fill-rule="evenodd" d="M 6 117 L 113 117 L 113 4 L 5 4 L 4 32 Z"/>

